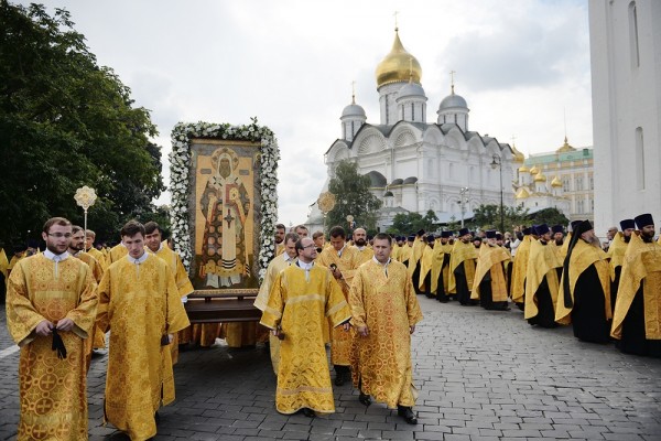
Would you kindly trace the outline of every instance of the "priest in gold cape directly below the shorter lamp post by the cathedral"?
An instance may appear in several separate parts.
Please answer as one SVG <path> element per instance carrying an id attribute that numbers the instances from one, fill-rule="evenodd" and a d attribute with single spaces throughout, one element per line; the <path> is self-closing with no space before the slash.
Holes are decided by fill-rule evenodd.
<path id="1" fill-rule="evenodd" d="M 459 240 L 455 241 L 449 257 L 447 292 L 455 292 L 463 306 L 477 304 L 470 300 L 476 260 L 477 249 L 470 243 L 470 232 L 468 228 L 462 228 Z"/>

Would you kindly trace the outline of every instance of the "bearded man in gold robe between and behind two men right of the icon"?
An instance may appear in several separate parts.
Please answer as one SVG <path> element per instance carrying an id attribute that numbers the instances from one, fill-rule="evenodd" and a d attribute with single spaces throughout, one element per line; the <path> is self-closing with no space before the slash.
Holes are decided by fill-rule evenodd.
<path id="1" fill-rule="evenodd" d="M 358 268 L 358 250 L 346 243 L 346 233 L 343 227 L 335 226 L 330 228 L 330 245 L 322 251 L 317 263 L 326 268 L 335 266 L 334 277 L 343 289 L 345 299 L 349 295 L 349 287 L 354 279 L 354 273 Z M 338 327 L 333 327 L 330 335 L 330 363 L 335 369 L 335 385 L 342 386 L 349 381 L 351 377 L 351 340 L 349 332 L 344 332 Z"/>

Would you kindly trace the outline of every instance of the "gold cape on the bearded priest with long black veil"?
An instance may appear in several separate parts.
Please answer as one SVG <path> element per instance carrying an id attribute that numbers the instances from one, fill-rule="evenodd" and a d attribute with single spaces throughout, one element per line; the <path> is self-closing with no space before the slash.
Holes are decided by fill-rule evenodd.
<path id="1" fill-rule="evenodd" d="M 576 281 L 583 271 L 585 271 L 593 263 L 597 270 L 602 289 L 604 290 L 604 316 L 606 320 L 610 320 L 613 316 L 610 309 L 610 271 L 608 268 L 608 262 L 606 261 L 606 254 L 602 250 L 602 248 L 586 244 L 583 239 L 578 238 L 574 249 L 572 250 L 568 265 L 570 273 L 567 276 L 565 272 L 563 272 L 562 279 L 560 280 L 557 302 L 555 303 L 555 321 L 557 323 L 572 323 L 572 308 L 566 308 L 564 303 L 564 278 L 570 278 L 570 295 L 572 297 L 572 301 L 575 302 L 574 288 L 576 287 Z"/>

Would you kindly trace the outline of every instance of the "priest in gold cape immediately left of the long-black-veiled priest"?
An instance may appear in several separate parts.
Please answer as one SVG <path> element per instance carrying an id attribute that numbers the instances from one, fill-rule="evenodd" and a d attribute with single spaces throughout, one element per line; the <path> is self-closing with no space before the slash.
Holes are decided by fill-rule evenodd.
<path id="1" fill-rule="evenodd" d="M 531 325 L 555 327 L 555 301 L 557 299 L 562 262 L 551 243 L 546 224 L 538 225 L 539 239 L 530 243 L 530 257 L 525 272 L 525 305 L 523 318 Z"/>

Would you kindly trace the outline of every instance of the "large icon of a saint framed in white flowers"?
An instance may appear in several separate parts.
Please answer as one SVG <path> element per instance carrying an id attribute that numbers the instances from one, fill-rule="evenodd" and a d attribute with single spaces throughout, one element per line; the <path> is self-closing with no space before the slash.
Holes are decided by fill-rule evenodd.
<path id="1" fill-rule="evenodd" d="M 177 123 L 172 131 L 174 249 L 195 293 L 257 294 L 274 256 L 278 160 L 257 125 Z"/>

